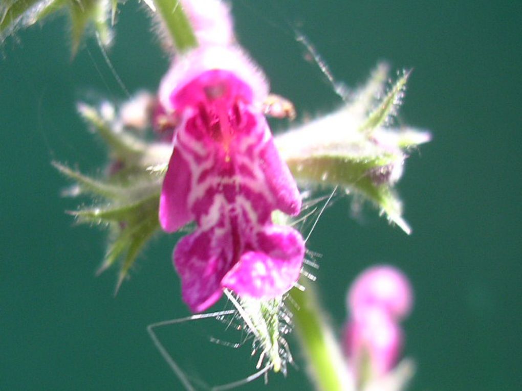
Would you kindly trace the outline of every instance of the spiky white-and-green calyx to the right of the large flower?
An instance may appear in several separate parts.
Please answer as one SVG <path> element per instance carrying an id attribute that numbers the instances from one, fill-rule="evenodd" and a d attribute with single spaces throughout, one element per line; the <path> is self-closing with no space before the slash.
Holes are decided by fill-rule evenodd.
<path id="1" fill-rule="evenodd" d="M 393 129 L 409 72 L 382 98 L 387 67 L 379 65 L 366 85 L 336 112 L 276 138 L 294 177 L 305 185 L 341 186 L 377 205 L 406 233 L 394 185 L 402 174 L 406 149 L 430 140 L 428 132 Z"/>

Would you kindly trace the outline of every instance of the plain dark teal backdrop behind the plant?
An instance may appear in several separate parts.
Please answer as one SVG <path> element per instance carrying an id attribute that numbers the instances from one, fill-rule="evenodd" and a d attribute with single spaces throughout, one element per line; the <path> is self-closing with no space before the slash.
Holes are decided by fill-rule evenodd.
<path id="1" fill-rule="evenodd" d="M 404 324 L 405 353 L 418 363 L 411 389 L 520 389 L 522 3 L 233 4 L 239 40 L 303 116 L 340 102 L 304 59 L 291 25 L 348 85 L 362 83 L 377 60 L 414 68 L 399 120 L 430 129 L 434 140 L 412 153 L 398 186 L 413 234 L 371 208 L 352 218 L 349 198 L 326 210 L 309 247 L 323 254 L 317 286 L 331 320 L 340 328 L 358 272 L 392 263 L 416 292 Z M 117 74 L 131 92 L 154 90 L 168 59 L 149 18 L 127 4 L 118 19 L 109 53 Z M 70 59 L 67 29 L 54 18 L 0 47 L 0 389 L 182 389 L 146 333 L 149 323 L 188 315 L 170 261 L 175 237 L 153 240 L 113 297 L 115 271 L 94 276 L 104 233 L 64 214 L 77 201 L 60 198 L 68 182 L 51 161 L 90 174 L 104 162 L 75 102 L 125 97 L 94 40 Z M 248 351 L 222 347 L 212 356 L 206 340 L 195 347 L 205 337 L 191 340 L 181 329 L 161 334 L 180 360 L 236 377 L 236 361 L 253 370 L 255 360 L 241 356 Z M 271 375 L 268 389 L 311 389 L 300 371 L 290 369 L 286 381 Z"/>

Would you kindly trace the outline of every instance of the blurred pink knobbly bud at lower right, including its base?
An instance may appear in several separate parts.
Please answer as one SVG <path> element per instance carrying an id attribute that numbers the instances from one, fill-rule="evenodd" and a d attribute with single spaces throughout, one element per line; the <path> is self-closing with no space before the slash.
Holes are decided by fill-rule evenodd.
<path id="1" fill-rule="evenodd" d="M 344 347 L 354 375 L 381 377 L 394 368 L 402 347 L 399 322 L 412 307 L 408 279 L 392 266 L 371 267 L 355 279 L 347 306 Z"/>

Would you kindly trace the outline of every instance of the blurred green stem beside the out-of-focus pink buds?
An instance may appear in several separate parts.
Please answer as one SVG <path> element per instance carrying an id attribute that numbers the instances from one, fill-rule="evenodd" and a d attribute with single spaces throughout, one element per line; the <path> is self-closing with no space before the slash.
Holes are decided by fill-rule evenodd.
<path id="1" fill-rule="evenodd" d="M 303 285 L 304 291 L 294 288 L 291 292 L 296 303 L 293 321 L 312 381 L 317 390 L 352 391 L 348 366 L 312 284 L 304 282 Z"/>

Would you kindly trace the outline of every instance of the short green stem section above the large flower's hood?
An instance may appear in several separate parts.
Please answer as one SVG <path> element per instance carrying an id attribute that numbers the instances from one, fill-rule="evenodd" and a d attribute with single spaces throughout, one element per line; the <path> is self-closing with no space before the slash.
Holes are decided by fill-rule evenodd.
<path id="1" fill-rule="evenodd" d="M 181 2 L 177 0 L 154 0 L 158 14 L 169 31 L 176 51 L 183 53 L 197 47 L 197 39 Z"/>

